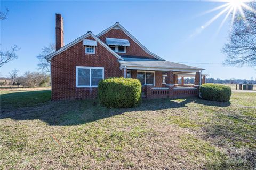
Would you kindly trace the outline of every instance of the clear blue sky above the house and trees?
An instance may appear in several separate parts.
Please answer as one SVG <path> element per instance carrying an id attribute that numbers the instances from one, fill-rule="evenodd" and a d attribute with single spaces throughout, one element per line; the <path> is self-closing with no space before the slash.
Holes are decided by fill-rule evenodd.
<path id="1" fill-rule="evenodd" d="M 222 66 L 221 48 L 227 42 L 229 21 L 217 33 L 225 15 L 212 25 L 201 26 L 220 11 L 199 15 L 221 5 L 205 1 L 1 1 L 9 9 L 1 22 L 1 48 L 17 44 L 18 59 L 1 67 L 1 75 L 16 68 L 19 75 L 36 71 L 36 55 L 55 42 L 55 13 L 64 19 L 65 44 L 91 30 L 93 34 L 121 23 L 151 52 L 173 62 L 205 68 L 209 77 L 256 78 L 255 68 Z M 195 34 L 202 30 L 200 34 Z M 204 64 L 195 64 L 204 63 Z M 212 64 L 205 64 L 212 63 Z"/>

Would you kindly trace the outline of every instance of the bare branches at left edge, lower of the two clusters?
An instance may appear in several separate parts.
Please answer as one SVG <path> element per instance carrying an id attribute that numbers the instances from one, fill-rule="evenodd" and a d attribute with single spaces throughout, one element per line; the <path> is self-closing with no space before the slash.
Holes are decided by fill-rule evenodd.
<path id="1" fill-rule="evenodd" d="M 9 61 L 17 59 L 18 56 L 16 55 L 15 52 L 18 50 L 19 50 L 19 48 L 17 45 L 14 45 L 13 47 L 11 47 L 10 50 L 7 50 L 7 51 L 0 50 L 0 67 L 2 67 L 3 64 L 5 64 Z"/>

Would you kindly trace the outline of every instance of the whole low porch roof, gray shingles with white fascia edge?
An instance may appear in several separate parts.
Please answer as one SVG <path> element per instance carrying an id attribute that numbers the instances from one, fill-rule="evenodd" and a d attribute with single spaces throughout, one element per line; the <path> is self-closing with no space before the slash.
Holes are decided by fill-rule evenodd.
<path id="1" fill-rule="evenodd" d="M 187 66 L 170 61 L 148 60 L 148 61 L 123 61 L 119 60 L 120 69 L 135 70 L 154 70 L 154 71 L 180 71 L 180 72 L 199 72 L 205 70 L 203 68 Z"/>

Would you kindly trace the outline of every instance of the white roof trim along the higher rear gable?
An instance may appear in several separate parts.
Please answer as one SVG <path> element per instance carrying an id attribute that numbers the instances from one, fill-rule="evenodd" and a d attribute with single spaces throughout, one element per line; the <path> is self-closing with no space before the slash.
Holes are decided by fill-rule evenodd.
<path id="1" fill-rule="evenodd" d="M 113 29 L 113 28 L 116 29 L 115 27 L 117 27 L 117 26 L 118 26 L 119 28 L 121 28 L 121 30 L 123 30 L 124 33 L 125 33 L 127 36 L 129 36 L 136 44 L 138 44 L 144 51 L 146 51 L 146 53 L 148 53 L 148 54 L 154 56 L 155 58 L 157 58 L 157 59 L 159 59 L 159 60 L 164 60 L 163 58 L 159 57 L 158 55 L 156 55 L 156 54 L 150 52 L 145 46 L 143 46 L 135 37 L 133 37 L 133 36 L 129 33 L 129 31 L 127 31 L 127 30 L 126 30 L 123 26 L 121 26 L 118 22 L 116 22 L 113 26 L 110 26 L 110 27 L 108 27 L 107 29 L 101 31 L 101 33 L 97 34 L 96 36 L 97 36 L 97 37 L 100 37 L 100 36 L 102 36 L 103 34 L 105 34 L 105 33 L 107 33 L 108 31 L 110 31 L 111 29 Z"/>

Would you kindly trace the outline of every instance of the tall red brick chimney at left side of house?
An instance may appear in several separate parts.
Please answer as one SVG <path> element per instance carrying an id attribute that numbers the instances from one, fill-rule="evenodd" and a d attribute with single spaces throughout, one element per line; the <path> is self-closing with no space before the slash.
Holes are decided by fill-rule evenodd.
<path id="1" fill-rule="evenodd" d="M 64 46 L 64 28 L 61 14 L 56 14 L 56 51 Z"/>

